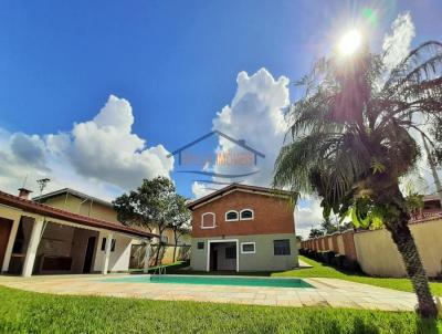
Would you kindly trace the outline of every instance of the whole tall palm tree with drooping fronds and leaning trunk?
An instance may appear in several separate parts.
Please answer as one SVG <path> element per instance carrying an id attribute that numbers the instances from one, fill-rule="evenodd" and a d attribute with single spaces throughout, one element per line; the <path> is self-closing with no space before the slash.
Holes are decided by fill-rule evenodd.
<path id="1" fill-rule="evenodd" d="M 351 59 L 323 59 L 298 82 L 305 95 L 287 112 L 290 132 L 273 185 L 295 194 L 316 192 L 325 217 L 333 211 L 350 215 L 356 226 L 383 225 L 402 255 L 418 312 L 434 317 L 435 303 L 399 185 L 420 157 L 412 132 L 435 148 L 422 126 L 442 131 L 442 43 L 420 45 L 391 71 L 383 56 L 364 48 Z"/>

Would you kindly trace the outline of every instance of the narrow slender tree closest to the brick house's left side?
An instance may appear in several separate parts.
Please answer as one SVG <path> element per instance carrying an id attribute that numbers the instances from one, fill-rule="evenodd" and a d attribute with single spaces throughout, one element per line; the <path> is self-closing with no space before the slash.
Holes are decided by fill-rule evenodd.
<path id="1" fill-rule="evenodd" d="M 176 195 L 173 198 L 173 215 L 168 227 L 173 231 L 173 262 L 177 258 L 177 247 L 182 234 L 190 231 L 191 212 L 186 207 L 186 197 Z"/>

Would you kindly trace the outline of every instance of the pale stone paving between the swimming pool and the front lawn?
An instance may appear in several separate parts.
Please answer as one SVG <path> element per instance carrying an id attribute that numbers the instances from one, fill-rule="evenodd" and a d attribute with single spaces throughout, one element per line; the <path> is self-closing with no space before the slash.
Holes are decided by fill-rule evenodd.
<path id="1" fill-rule="evenodd" d="M 199 301 L 284 306 L 333 306 L 387 311 L 413 311 L 414 294 L 343 281 L 305 279 L 313 288 L 262 288 L 169 283 L 103 282 L 123 275 L 0 276 L 0 284 L 53 294 L 145 298 L 167 301 Z"/>

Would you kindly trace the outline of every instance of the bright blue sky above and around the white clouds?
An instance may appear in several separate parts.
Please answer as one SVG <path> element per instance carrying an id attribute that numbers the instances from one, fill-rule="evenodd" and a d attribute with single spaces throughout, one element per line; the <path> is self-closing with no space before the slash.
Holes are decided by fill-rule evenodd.
<path id="1" fill-rule="evenodd" d="M 238 93 L 240 72 L 252 76 L 264 67 L 275 81 L 299 79 L 346 29 L 364 21 L 367 8 L 376 13 L 376 24 L 367 30 L 376 51 L 407 11 L 415 27 L 413 45 L 442 40 L 438 0 L 2 1 L 0 145 L 11 145 L 10 138 L 22 133 L 22 142 L 32 140 L 45 155 L 48 135 L 71 134 L 74 123 L 93 119 L 113 94 L 131 106 L 131 134 L 146 147 L 171 152 L 212 128 L 217 113 Z M 287 90 L 293 101 L 293 85 Z M 214 149 L 219 144 L 206 145 Z M 86 157 L 91 164 L 93 157 Z M 40 165 L 35 175 L 66 169 L 73 161 L 45 159 L 50 167 Z M 0 170 L 2 189 L 13 189 L 25 175 L 34 177 L 36 165 L 25 163 L 29 168 L 10 175 Z M 72 186 L 83 177 L 83 190 L 94 179 L 104 184 L 98 195 L 113 196 L 125 185 L 112 181 L 118 173 L 101 179 L 82 164 L 59 173 L 53 186 Z M 192 178 L 177 170 L 171 177 L 179 191 L 192 196 Z"/>

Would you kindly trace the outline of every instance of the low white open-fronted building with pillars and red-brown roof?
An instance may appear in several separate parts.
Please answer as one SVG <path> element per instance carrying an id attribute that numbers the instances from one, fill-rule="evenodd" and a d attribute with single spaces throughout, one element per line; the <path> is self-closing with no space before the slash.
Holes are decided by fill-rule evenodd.
<path id="1" fill-rule="evenodd" d="M 30 200 L 30 191 L 20 190 L 19 196 L 0 191 L 2 273 L 124 272 L 129 269 L 131 246 L 158 237 Z M 149 247 L 145 249 L 148 252 Z"/>

